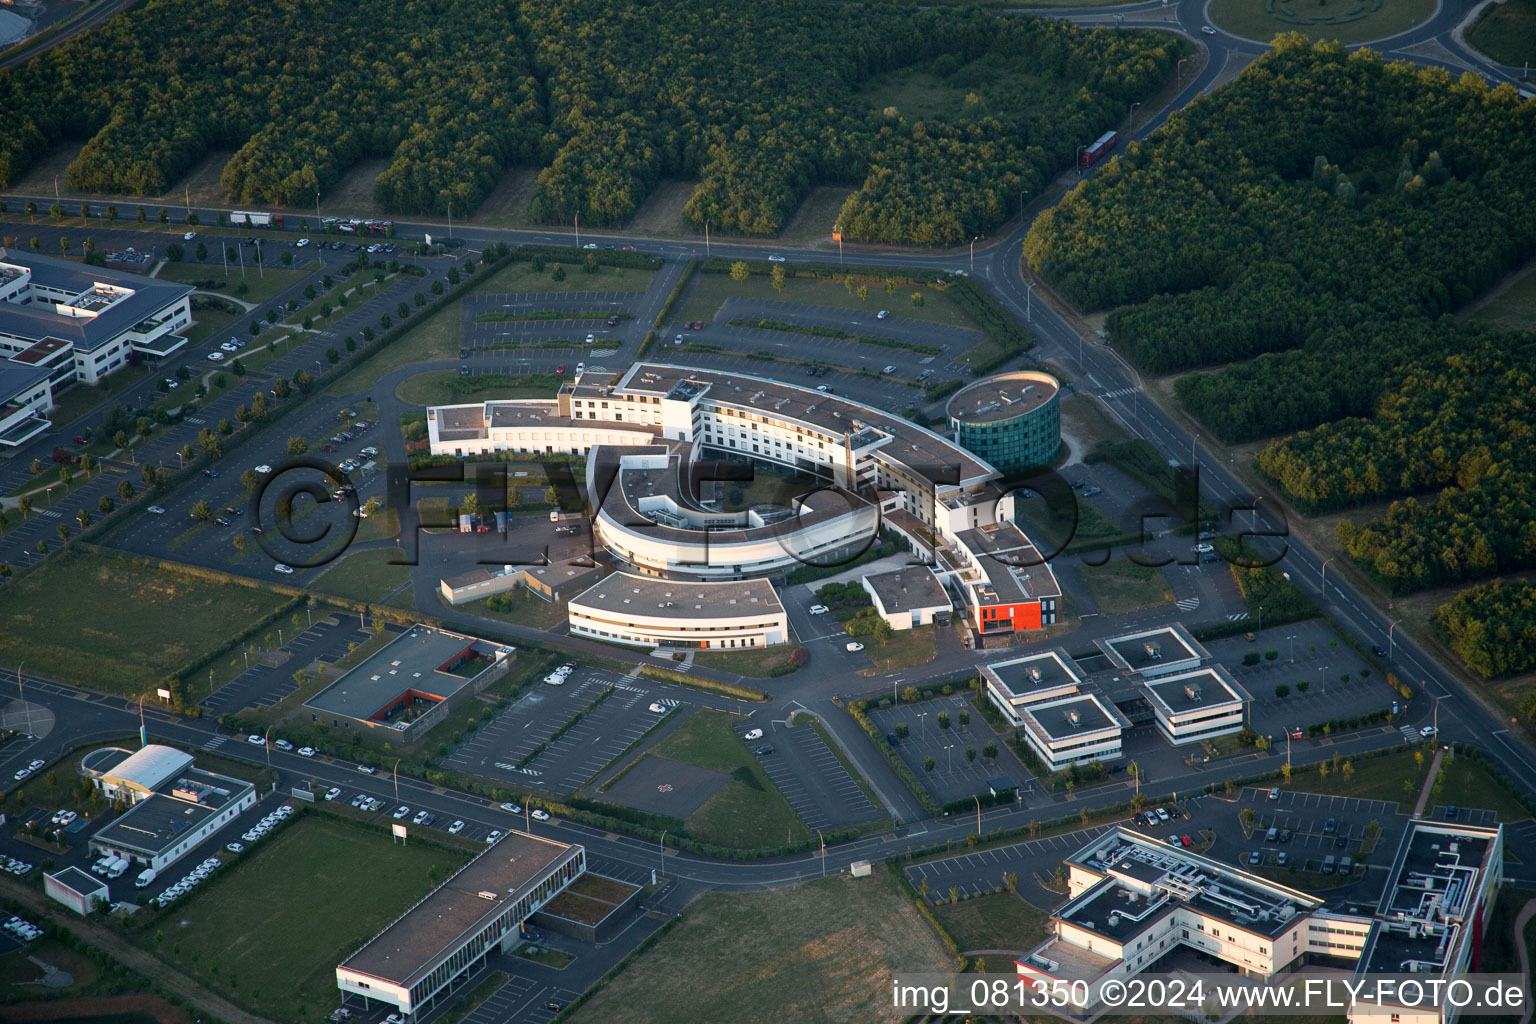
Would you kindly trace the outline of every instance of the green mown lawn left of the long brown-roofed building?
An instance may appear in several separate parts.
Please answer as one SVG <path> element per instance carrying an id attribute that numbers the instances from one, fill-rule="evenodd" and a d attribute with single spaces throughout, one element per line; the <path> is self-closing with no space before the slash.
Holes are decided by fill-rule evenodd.
<path id="1" fill-rule="evenodd" d="M 336 964 L 467 860 L 433 843 L 399 846 L 387 831 L 301 814 L 138 941 L 269 1019 L 319 1019 L 336 1003 Z M 324 907 L 346 913 L 324 913 L 316 927 Z"/>

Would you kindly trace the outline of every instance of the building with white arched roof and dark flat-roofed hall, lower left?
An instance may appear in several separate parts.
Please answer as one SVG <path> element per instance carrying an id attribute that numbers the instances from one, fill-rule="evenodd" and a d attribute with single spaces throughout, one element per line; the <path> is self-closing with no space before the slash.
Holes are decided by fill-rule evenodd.
<path id="1" fill-rule="evenodd" d="M 129 804 L 91 837 L 91 849 L 157 872 L 257 803 L 250 783 L 203 771 L 190 754 L 158 743 L 91 751 L 80 774 L 108 800 Z"/>

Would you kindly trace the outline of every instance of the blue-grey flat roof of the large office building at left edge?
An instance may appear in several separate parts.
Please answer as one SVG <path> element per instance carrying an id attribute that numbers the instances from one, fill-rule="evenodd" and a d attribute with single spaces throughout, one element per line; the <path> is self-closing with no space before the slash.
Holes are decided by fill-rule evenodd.
<path id="1" fill-rule="evenodd" d="M 0 332 L 34 341 L 57 338 L 83 352 L 108 344 L 195 290 L 190 284 L 137 276 L 18 249 L 0 249 L 0 264 L 29 270 L 32 287 L 65 292 L 71 301 L 94 292 L 97 286 L 129 292 L 115 298 L 98 316 L 61 316 L 54 312 L 54 302 L 46 301 L 32 301 L 26 306 L 0 302 Z"/>

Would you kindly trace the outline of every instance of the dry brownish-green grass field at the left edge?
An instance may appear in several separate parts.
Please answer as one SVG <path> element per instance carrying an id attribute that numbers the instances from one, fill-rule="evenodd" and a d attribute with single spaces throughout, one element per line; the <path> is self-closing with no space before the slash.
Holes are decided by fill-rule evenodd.
<path id="1" fill-rule="evenodd" d="M 91 594 L 91 600 L 80 600 Z M 49 560 L 0 591 L 0 663 L 118 694 L 166 676 L 286 597 L 88 554 Z"/>

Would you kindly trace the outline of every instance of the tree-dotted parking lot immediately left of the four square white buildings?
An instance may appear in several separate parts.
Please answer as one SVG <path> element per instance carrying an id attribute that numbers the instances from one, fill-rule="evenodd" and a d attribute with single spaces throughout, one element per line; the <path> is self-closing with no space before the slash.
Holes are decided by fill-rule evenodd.
<path id="1" fill-rule="evenodd" d="M 938 726 L 938 714 L 949 714 L 949 728 Z M 960 712 L 968 712 L 971 722 L 962 725 Z M 925 700 L 917 705 L 902 705 L 871 712 L 882 737 L 895 735 L 895 726 L 906 725 L 908 735 L 897 742 L 895 751 L 912 774 L 923 783 L 934 800 L 949 803 L 988 792 L 988 780 L 1006 775 L 1023 791 L 1034 775 L 1018 761 L 1005 742 L 994 735 L 965 694 L 952 694 Z M 886 740 L 880 740 L 886 742 Z M 997 758 L 982 755 L 988 743 L 997 745 Z M 975 751 L 975 760 L 966 760 L 966 749 Z M 932 771 L 926 760 L 932 758 Z"/>

